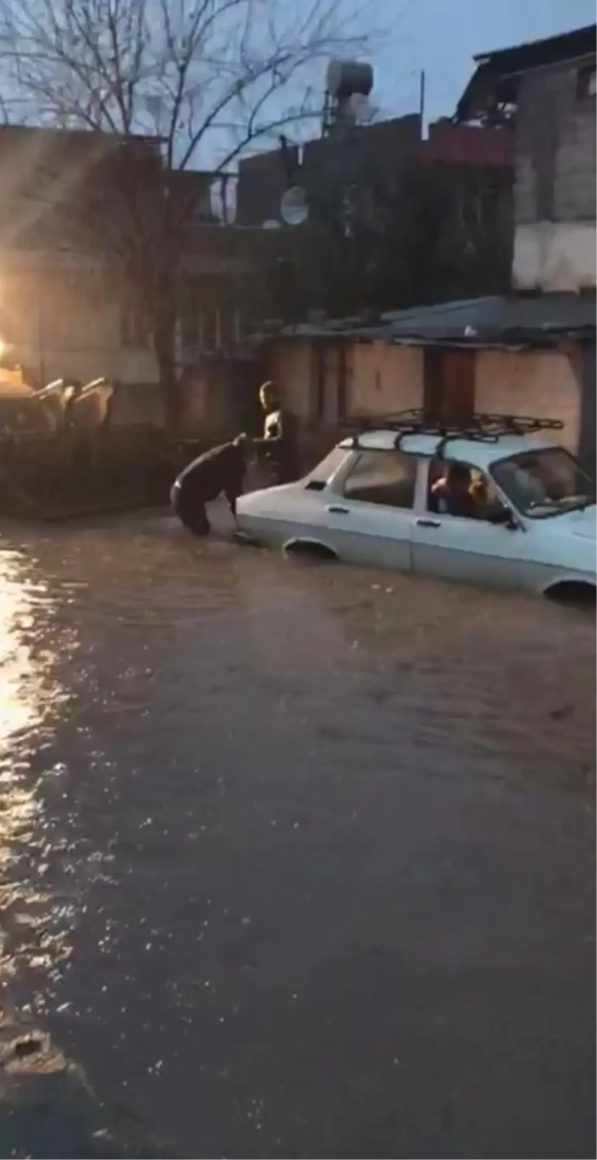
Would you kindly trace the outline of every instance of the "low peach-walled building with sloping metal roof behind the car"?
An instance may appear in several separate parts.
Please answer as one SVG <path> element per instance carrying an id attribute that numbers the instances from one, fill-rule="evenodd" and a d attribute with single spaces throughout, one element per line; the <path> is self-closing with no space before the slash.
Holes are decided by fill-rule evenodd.
<path id="1" fill-rule="evenodd" d="M 347 419 L 421 408 L 562 423 L 560 441 L 597 471 L 597 318 L 589 297 L 490 297 L 286 327 L 265 346 L 307 444 L 325 450 Z M 319 436 L 315 438 L 315 436 Z"/>

